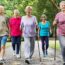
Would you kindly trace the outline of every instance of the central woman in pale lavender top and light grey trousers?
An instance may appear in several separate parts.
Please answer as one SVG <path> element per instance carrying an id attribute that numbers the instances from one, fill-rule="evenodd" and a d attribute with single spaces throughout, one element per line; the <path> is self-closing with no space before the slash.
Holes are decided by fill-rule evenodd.
<path id="1" fill-rule="evenodd" d="M 23 29 L 24 37 L 25 62 L 29 64 L 29 60 L 34 53 L 37 19 L 32 15 L 31 6 L 25 8 L 25 13 L 26 15 L 21 20 L 21 28 Z"/>

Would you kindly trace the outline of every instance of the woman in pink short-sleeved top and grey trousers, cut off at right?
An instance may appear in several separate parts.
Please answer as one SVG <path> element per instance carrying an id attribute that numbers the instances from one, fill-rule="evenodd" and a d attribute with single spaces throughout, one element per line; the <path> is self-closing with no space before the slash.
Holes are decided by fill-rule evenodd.
<path id="1" fill-rule="evenodd" d="M 56 14 L 53 26 L 57 24 L 57 36 L 60 42 L 62 57 L 65 65 L 65 1 L 60 2 L 61 11 Z"/>

